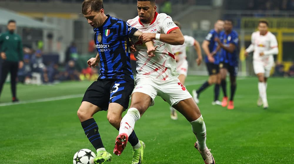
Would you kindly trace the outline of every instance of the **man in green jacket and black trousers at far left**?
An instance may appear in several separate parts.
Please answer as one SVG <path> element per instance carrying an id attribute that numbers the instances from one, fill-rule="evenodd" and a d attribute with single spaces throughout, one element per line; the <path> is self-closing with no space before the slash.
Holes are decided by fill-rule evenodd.
<path id="1" fill-rule="evenodd" d="M 0 34 L 0 54 L 1 62 L 1 79 L 0 94 L 5 83 L 8 72 L 11 76 L 12 102 L 17 102 L 16 98 L 16 78 L 17 71 L 23 66 L 23 50 L 21 37 L 14 33 L 16 29 L 15 20 L 9 20 L 7 24 L 8 31 Z"/>

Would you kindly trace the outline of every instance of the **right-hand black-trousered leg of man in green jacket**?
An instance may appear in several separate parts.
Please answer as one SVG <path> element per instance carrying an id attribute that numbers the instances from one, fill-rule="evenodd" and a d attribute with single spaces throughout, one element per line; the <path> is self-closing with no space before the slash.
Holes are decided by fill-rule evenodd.
<path id="1" fill-rule="evenodd" d="M 10 83 L 11 83 L 12 102 L 19 101 L 16 98 L 16 78 L 17 78 L 18 68 L 19 68 L 18 62 L 11 62 Z"/>

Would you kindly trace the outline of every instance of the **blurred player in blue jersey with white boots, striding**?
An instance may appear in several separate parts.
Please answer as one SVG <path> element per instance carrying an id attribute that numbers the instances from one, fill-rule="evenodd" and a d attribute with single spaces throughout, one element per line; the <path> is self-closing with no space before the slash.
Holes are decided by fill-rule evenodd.
<path id="1" fill-rule="evenodd" d="M 219 88 L 220 88 L 220 74 L 219 74 L 219 52 L 216 51 L 218 43 L 214 40 L 215 38 L 220 37 L 220 33 L 223 30 L 224 22 L 223 20 L 217 20 L 214 24 L 214 29 L 212 29 L 205 40 L 202 43 L 202 48 L 206 54 L 205 62 L 209 74 L 208 81 L 202 84 L 198 90 L 192 90 L 193 98 L 196 103 L 199 103 L 199 95 L 205 90 L 208 86 L 216 84 L 214 87 L 214 101 L 212 105 L 221 105 L 221 102 L 218 100 Z"/>

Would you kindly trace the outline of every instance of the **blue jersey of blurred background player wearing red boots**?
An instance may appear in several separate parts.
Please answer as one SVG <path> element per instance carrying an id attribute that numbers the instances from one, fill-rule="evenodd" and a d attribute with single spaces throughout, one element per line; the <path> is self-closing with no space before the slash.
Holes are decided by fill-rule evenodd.
<path id="1" fill-rule="evenodd" d="M 220 51 L 220 62 L 228 63 L 230 66 L 238 66 L 238 47 L 239 47 L 239 37 L 238 33 L 235 30 L 232 30 L 230 34 L 222 32 L 220 34 L 221 42 L 224 46 L 228 47 L 230 44 L 235 45 L 235 50 L 233 53 L 221 49 Z"/>

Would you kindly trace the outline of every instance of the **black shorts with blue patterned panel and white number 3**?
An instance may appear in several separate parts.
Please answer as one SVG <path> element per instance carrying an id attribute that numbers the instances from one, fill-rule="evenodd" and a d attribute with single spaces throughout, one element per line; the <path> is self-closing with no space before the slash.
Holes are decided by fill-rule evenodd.
<path id="1" fill-rule="evenodd" d="M 108 110 L 108 104 L 115 102 L 128 109 L 130 95 L 135 87 L 133 79 L 98 79 L 86 90 L 83 101 L 91 102 L 102 110 Z"/>

